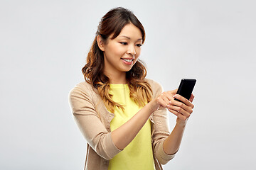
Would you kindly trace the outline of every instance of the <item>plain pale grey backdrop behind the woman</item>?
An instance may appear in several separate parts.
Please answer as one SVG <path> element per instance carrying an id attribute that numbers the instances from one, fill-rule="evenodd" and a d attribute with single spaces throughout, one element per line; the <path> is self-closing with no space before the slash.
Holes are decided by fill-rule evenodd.
<path id="1" fill-rule="evenodd" d="M 123 6 L 146 30 L 141 59 L 164 90 L 196 78 L 181 148 L 164 169 L 256 169 L 255 1 L 0 2 L 0 169 L 83 169 L 68 105 L 100 18 Z M 170 128 L 176 117 L 170 113 Z"/>

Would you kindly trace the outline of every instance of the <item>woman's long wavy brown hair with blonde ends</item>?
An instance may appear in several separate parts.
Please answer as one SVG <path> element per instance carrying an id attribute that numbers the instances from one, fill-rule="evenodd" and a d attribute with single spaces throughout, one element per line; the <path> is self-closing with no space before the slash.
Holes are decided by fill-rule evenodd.
<path id="1" fill-rule="evenodd" d="M 102 41 L 107 43 L 110 35 L 114 34 L 111 39 L 117 38 L 122 28 L 127 24 L 132 23 L 142 32 L 142 44 L 145 40 L 145 30 L 142 23 L 134 16 L 132 11 L 126 8 L 113 8 L 102 17 L 97 28 L 95 40 L 92 42 L 92 47 L 87 55 L 87 64 L 82 67 L 82 74 L 85 81 L 92 84 L 99 92 L 107 109 L 114 112 L 114 106 L 124 109 L 122 105 L 112 100 L 110 92 L 110 79 L 103 74 L 104 69 L 104 54 L 97 45 L 97 35 L 100 35 Z M 139 106 L 145 106 L 152 99 L 152 89 L 148 82 L 144 80 L 146 77 L 146 68 L 144 64 L 137 60 L 131 70 L 126 74 L 130 98 Z"/>

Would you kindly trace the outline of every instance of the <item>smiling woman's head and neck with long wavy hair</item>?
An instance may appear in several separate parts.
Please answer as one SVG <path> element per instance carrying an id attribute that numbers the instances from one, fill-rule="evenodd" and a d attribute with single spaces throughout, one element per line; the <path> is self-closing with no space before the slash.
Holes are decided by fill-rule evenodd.
<path id="1" fill-rule="evenodd" d="M 106 13 L 98 26 L 82 73 L 112 112 L 114 106 L 123 107 L 112 100 L 110 84 L 128 84 L 131 98 L 139 106 L 144 106 L 144 101 L 151 101 L 151 86 L 145 80 L 146 68 L 138 60 L 144 40 L 142 23 L 124 8 L 114 8 Z"/>

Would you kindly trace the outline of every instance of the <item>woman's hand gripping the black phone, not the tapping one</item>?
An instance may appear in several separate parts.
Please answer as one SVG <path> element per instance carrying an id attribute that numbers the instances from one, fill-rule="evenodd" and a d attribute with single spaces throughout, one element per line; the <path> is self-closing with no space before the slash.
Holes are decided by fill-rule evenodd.
<path id="1" fill-rule="evenodd" d="M 174 98 L 180 100 L 180 101 L 176 101 L 174 100 Z M 171 101 L 169 101 L 169 105 L 167 105 L 166 108 L 168 108 L 168 110 L 171 113 L 174 113 L 174 115 L 177 116 L 177 124 L 179 125 L 186 125 L 186 121 L 188 120 L 189 116 L 191 115 L 191 113 L 193 112 L 193 94 L 191 94 L 191 98 L 186 99 L 181 95 L 174 95 L 174 98 L 171 99 Z M 182 102 L 181 102 L 182 101 Z"/>

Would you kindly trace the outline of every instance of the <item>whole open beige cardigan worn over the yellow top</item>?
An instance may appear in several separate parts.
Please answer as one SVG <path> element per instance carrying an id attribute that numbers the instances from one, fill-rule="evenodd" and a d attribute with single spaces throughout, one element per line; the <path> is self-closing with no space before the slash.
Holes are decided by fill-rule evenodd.
<path id="1" fill-rule="evenodd" d="M 162 92 L 161 85 L 146 79 L 153 90 L 153 98 Z M 87 82 L 81 82 L 71 89 L 69 96 L 71 111 L 75 121 L 87 141 L 85 169 L 108 169 L 109 160 L 122 152 L 114 146 L 111 138 L 110 121 L 114 114 L 107 111 L 97 89 Z M 156 170 L 162 169 L 175 154 L 166 154 L 163 143 L 169 136 L 168 115 L 166 109 L 159 109 L 150 115 L 151 138 Z"/>

